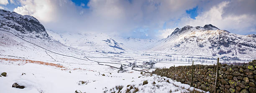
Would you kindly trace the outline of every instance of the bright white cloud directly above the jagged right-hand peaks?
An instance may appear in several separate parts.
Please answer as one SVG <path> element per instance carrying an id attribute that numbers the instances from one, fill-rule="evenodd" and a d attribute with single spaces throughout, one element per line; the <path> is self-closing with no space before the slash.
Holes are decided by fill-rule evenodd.
<path id="1" fill-rule="evenodd" d="M 210 10 L 200 13 L 195 20 L 184 17 L 181 19 L 179 26 L 204 26 L 205 24 L 212 24 L 222 30 L 229 30 L 231 33 L 246 34 L 253 31 L 256 32 L 256 14 L 235 13 L 236 15 L 234 15 L 232 12 L 225 10 L 230 7 L 234 8 L 234 6 L 230 6 L 230 3 L 232 3 L 232 1 L 223 1 L 211 7 Z"/>

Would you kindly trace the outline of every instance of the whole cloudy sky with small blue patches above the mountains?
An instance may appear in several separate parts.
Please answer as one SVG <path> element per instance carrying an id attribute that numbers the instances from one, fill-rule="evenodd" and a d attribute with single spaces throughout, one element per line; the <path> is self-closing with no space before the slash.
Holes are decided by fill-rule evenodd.
<path id="1" fill-rule="evenodd" d="M 58 33 L 161 39 L 185 25 L 256 34 L 256 0 L 0 0 Z"/>

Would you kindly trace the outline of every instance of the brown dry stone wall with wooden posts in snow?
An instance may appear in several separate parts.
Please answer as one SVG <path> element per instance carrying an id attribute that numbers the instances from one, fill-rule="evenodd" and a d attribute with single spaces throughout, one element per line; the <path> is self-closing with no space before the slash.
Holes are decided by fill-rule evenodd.
<path id="1" fill-rule="evenodd" d="M 256 93 L 256 60 L 243 65 L 219 65 L 218 93 Z M 190 84 L 192 65 L 156 69 L 154 74 Z M 194 65 L 192 86 L 214 92 L 216 65 Z"/>

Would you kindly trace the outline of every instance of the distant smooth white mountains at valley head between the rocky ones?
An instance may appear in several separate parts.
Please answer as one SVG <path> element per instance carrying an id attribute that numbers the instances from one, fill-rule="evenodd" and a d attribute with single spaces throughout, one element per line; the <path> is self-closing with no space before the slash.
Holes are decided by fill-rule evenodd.
<path id="1" fill-rule="evenodd" d="M 104 33 L 56 33 L 46 30 L 47 33 L 60 43 L 81 50 L 122 53 L 125 50 L 146 50 L 157 42 L 154 39 L 121 38 Z"/>

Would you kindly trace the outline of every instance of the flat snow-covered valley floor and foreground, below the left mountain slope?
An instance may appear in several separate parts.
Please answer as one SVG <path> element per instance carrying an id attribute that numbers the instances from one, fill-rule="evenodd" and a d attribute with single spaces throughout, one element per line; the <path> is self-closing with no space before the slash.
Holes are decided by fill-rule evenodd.
<path id="1" fill-rule="evenodd" d="M 65 61 L 54 61 L 50 58 L 28 59 L 1 55 L 0 72 L 6 72 L 7 76 L 0 77 L 0 90 L 3 93 L 74 93 L 76 90 L 78 93 L 112 93 L 114 91 L 115 93 L 118 91 L 122 93 L 184 93 L 192 90 L 204 92 L 166 77 L 145 73 L 151 72 L 154 68 L 190 64 L 166 61 L 156 63 L 153 69 L 148 69 L 150 67 L 145 61 L 164 56 L 141 56 L 136 53 L 138 52 L 96 53 L 95 55 L 104 56 L 98 58 L 87 56 L 90 60 L 102 63 L 67 57 Z M 49 55 L 54 56 L 52 53 Z M 137 67 L 132 68 L 133 66 L 129 63 L 135 63 Z M 118 73 L 120 64 L 124 66 Z M 141 74 L 142 71 L 137 70 L 144 72 Z M 148 84 L 143 85 L 144 81 Z M 26 88 L 12 88 L 13 83 Z"/>

